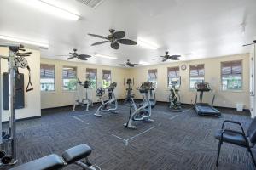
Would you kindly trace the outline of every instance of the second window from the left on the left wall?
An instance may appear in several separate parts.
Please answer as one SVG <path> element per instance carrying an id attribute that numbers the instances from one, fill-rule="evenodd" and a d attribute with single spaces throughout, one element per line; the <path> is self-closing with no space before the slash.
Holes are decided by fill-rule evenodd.
<path id="1" fill-rule="evenodd" d="M 73 91 L 77 89 L 77 68 L 64 66 L 62 69 L 63 90 Z"/>

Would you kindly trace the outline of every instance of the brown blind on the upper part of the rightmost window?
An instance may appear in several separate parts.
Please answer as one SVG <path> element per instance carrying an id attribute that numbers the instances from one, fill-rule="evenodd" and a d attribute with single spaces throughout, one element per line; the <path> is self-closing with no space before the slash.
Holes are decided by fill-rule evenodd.
<path id="1" fill-rule="evenodd" d="M 242 66 L 241 60 L 227 61 L 221 63 L 222 75 L 239 75 L 241 74 Z"/>

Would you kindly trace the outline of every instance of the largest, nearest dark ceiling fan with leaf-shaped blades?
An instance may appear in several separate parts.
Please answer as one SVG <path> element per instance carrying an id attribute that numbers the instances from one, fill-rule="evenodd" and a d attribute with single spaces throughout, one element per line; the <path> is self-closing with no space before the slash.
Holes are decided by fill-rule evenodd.
<path id="1" fill-rule="evenodd" d="M 119 43 L 125 44 L 125 45 L 137 45 L 137 42 L 130 40 L 130 39 L 124 39 L 125 37 L 125 31 L 115 31 L 114 29 L 109 30 L 110 35 L 108 37 L 99 36 L 96 34 L 88 34 L 92 37 L 98 37 L 104 39 L 102 42 L 95 42 L 91 44 L 91 46 L 100 45 L 102 43 L 110 42 L 110 46 L 113 49 L 119 49 Z"/>

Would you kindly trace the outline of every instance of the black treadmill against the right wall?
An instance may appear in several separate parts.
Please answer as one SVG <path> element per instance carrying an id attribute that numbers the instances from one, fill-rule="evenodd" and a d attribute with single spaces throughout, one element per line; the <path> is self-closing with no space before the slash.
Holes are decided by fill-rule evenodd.
<path id="1" fill-rule="evenodd" d="M 194 109 L 195 109 L 196 113 L 200 116 L 221 116 L 220 111 L 218 111 L 217 109 L 215 109 L 213 107 L 215 95 L 213 95 L 213 98 L 212 98 L 212 105 L 202 102 L 204 92 L 209 92 L 212 90 L 209 83 L 208 82 L 196 82 L 195 89 L 197 92 L 200 92 L 200 97 L 199 97 L 200 102 L 199 103 L 197 103 L 197 93 L 195 96 Z"/>

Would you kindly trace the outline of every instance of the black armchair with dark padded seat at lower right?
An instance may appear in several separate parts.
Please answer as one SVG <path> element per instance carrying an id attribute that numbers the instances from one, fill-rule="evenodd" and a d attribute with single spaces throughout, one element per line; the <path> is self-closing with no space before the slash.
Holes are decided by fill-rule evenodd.
<path id="1" fill-rule="evenodd" d="M 224 124 L 226 122 L 239 125 L 241 127 L 241 131 L 224 129 Z M 248 152 L 250 153 L 250 155 L 253 158 L 254 166 L 256 167 L 256 162 L 253 157 L 253 152 L 251 150 L 251 148 L 253 148 L 253 146 L 256 144 L 256 117 L 253 119 L 253 122 L 251 122 L 251 124 L 247 130 L 247 135 L 244 132 L 243 127 L 241 126 L 240 122 L 225 120 L 222 124 L 221 129 L 215 133 L 215 138 L 219 140 L 218 156 L 217 156 L 217 161 L 216 161 L 217 167 L 218 167 L 218 157 L 219 157 L 219 153 L 220 153 L 220 148 L 221 148 L 221 144 L 223 144 L 223 142 L 226 142 L 229 144 L 236 144 L 238 146 L 247 148 Z"/>

